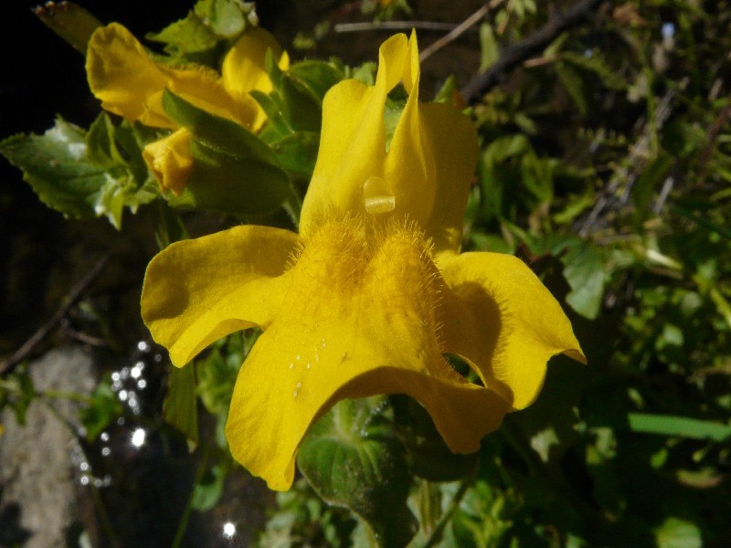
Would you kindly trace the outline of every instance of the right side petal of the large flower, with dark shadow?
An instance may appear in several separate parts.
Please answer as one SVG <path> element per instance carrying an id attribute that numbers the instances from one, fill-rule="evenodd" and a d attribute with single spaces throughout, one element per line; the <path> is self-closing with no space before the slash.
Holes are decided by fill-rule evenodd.
<path id="1" fill-rule="evenodd" d="M 468 360 L 514 409 L 535 400 L 551 356 L 586 364 L 566 314 L 522 260 L 464 253 L 438 264 L 450 287 L 440 306 L 446 352 Z"/>

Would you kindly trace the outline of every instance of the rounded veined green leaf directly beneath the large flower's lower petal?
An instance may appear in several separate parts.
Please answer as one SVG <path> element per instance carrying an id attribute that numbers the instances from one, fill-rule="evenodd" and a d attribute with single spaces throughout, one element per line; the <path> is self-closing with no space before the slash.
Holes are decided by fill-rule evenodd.
<path id="1" fill-rule="evenodd" d="M 372 527 L 383 546 L 404 546 L 415 532 L 409 476 L 385 397 L 343 400 L 302 441 L 297 464 L 314 490 Z"/>

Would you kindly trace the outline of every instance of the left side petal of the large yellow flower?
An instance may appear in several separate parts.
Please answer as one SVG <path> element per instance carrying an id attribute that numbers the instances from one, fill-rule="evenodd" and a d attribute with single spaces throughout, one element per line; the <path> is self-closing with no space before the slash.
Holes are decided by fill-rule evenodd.
<path id="1" fill-rule="evenodd" d="M 143 320 L 177 366 L 208 344 L 254 325 L 281 306 L 282 277 L 298 242 L 270 227 L 234 227 L 158 253 L 144 278 Z"/>

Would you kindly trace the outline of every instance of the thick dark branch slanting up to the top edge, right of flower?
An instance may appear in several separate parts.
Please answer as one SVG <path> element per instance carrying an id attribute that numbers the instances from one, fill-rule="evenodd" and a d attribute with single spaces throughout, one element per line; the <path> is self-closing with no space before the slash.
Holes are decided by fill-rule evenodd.
<path id="1" fill-rule="evenodd" d="M 468 103 L 479 100 L 484 93 L 491 90 L 503 79 L 503 75 L 532 58 L 546 48 L 558 35 L 571 26 L 576 26 L 591 15 L 591 10 L 602 0 L 579 0 L 563 14 L 551 18 L 545 26 L 526 37 L 522 42 L 503 50 L 497 62 L 482 74 L 478 74 L 462 89 L 462 95 Z"/>

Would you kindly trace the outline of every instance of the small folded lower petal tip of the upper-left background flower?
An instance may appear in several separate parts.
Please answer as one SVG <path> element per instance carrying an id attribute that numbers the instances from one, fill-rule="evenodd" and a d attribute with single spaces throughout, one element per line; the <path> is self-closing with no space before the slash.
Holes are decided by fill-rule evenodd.
<path id="1" fill-rule="evenodd" d="M 172 190 L 178 196 L 183 194 L 193 171 L 192 139 L 193 134 L 183 128 L 144 147 L 144 161 L 163 191 Z"/>

